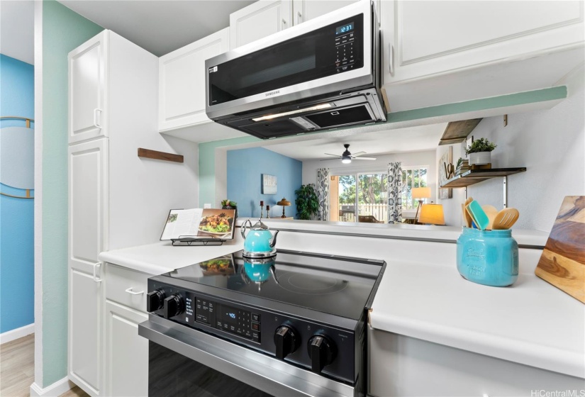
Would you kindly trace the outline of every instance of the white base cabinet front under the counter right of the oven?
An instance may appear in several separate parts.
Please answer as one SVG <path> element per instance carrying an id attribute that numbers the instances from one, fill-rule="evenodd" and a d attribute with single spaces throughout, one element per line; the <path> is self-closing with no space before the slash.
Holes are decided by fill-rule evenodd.
<path id="1" fill-rule="evenodd" d="M 585 380 L 413 337 L 369 328 L 368 394 L 391 396 L 545 396 Z M 547 394 L 548 395 L 548 394 Z"/>

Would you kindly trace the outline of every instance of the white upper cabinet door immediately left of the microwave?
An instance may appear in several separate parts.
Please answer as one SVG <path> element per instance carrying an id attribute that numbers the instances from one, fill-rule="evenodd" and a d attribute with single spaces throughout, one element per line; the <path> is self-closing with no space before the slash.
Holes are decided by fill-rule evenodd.
<path id="1" fill-rule="evenodd" d="M 208 123 L 205 61 L 229 50 L 229 28 L 160 57 L 159 130 Z"/>

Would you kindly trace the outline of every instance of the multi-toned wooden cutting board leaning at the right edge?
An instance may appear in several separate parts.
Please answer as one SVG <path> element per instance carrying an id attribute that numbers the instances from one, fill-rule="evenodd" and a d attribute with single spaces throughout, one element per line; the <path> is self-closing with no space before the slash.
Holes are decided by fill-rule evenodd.
<path id="1" fill-rule="evenodd" d="M 566 196 L 535 274 L 585 303 L 585 196 Z"/>

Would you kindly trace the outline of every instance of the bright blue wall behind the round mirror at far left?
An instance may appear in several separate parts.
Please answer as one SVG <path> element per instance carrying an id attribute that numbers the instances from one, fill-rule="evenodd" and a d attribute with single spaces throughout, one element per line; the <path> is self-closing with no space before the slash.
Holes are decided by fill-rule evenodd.
<path id="1" fill-rule="evenodd" d="M 0 116 L 34 118 L 34 111 L 33 65 L 0 54 Z M 25 121 L 0 121 L 0 128 L 12 126 L 24 127 Z M 5 184 L 0 184 L 0 191 L 26 196 L 26 190 Z M 31 198 L 0 196 L 0 333 L 35 322 L 33 211 Z"/>

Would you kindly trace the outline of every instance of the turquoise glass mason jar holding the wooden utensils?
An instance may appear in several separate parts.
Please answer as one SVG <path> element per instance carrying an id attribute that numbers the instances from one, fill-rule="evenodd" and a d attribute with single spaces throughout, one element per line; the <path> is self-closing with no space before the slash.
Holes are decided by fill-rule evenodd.
<path id="1" fill-rule="evenodd" d="M 477 284 L 514 284 L 518 279 L 518 243 L 512 230 L 463 228 L 457 239 L 457 270 Z"/>

